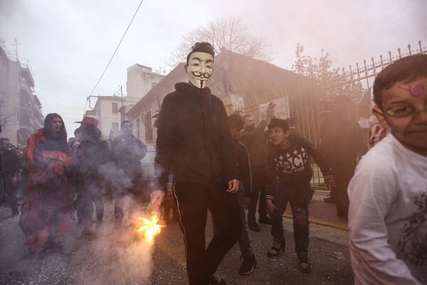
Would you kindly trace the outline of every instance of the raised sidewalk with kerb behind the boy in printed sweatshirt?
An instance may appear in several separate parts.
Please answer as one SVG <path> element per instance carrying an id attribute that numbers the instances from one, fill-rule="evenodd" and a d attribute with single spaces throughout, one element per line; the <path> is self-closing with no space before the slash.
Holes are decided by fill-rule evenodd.
<path id="1" fill-rule="evenodd" d="M 308 204 L 310 223 L 348 231 L 347 220 L 337 216 L 335 204 L 323 201 L 323 198 L 327 195 L 329 195 L 329 191 L 315 190 L 315 195 L 313 195 L 312 201 Z M 292 219 L 290 207 L 286 208 L 283 217 Z"/>

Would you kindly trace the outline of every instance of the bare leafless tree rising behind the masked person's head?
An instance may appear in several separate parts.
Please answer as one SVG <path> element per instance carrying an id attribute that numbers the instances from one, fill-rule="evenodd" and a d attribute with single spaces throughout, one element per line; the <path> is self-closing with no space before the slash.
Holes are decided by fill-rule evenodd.
<path id="1" fill-rule="evenodd" d="M 210 21 L 206 26 L 195 28 L 181 38 L 181 43 L 176 51 L 172 52 L 172 56 L 167 62 L 167 65 L 172 68 L 180 62 L 186 61 L 191 46 L 202 41 L 211 43 L 216 53 L 219 53 L 221 48 L 226 48 L 229 51 L 262 61 L 271 60 L 266 51 L 268 45 L 265 38 L 251 35 L 248 32 L 248 26 L 244 25 L 240 18 L 221 18 Z"/>

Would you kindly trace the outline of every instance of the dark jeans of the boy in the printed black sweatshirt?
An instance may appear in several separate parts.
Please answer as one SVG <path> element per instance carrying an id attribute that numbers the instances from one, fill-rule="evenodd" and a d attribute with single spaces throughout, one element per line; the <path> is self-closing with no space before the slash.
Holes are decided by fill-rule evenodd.
<path id="1" fill-rule="evenodd" d="M 280 182 L 279 178 L 273 201 L 275 206 L 279 208 L 279 212 L 271 219 L 271 235 L 285 244 L 282 214 L 285 212 L 286 204 L 289 202 L 292 209 L 295 252 L 297 255 L 301 252 L 308 252 L 308 226 L 310 224 L 308 221 L 308 202 L 310 202 L 310 197 L 310 182 L 289 185 Z"/>

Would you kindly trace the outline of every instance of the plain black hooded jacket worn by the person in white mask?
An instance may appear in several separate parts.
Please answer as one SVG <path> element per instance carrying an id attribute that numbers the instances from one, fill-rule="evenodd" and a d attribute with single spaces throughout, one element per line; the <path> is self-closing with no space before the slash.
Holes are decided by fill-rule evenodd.
<path id="1" fill-rule="evenodd" d="M 209 88 L 176 83 L 159 115 L 154 160 L 158 185 L 167 191 L 171 167 L 174 182 L 190 181 L 228 188 L 238 179 L 236 155 L 222 101 Z"/>

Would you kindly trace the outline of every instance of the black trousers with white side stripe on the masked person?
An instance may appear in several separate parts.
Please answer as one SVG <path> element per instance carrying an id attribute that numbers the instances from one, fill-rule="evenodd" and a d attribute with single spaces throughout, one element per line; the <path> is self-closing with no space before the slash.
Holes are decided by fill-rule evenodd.
<path id="1" fill-rule="evenodd" d="M 227 252 L 241 234 L 241 217 L 236 195 L 196 182 L 174 183 L 186 247 L 189 284 L 207 285 Z M 216 221 L 216 233 L 206 249 L 205 227 L 208 209 Z"/>

